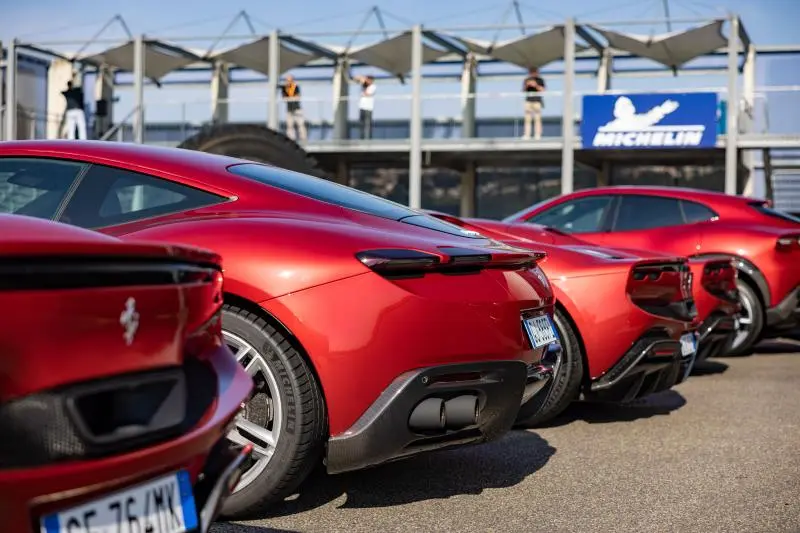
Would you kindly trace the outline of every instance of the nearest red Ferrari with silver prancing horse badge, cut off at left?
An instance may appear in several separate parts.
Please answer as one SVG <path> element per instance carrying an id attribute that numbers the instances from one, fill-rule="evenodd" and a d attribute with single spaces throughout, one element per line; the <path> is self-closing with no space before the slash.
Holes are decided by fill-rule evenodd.
<path id="1" fill-rule="evenodd" d="M 4 533 L 208 531 L 249 448 L 211 253 L 0 215 Z"/>

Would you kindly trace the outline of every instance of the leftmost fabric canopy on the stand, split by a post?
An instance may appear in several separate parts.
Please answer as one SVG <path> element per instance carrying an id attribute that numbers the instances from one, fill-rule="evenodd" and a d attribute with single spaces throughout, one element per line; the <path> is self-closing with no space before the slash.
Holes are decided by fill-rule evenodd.
<path id="1" fill-rule="evenodd" d="M 82 59 L 99 65 L 108 65 L 126 72 L 133 72 L 133 47 L 134 42 L 128 41 L 121 46 L 109 48 Z M 200 56 L 183 48 L 163 41 L 145 42 L 144 75 L 150 79 L 159 80 L 170 72 L 198 61 L 202 61 Z"/>

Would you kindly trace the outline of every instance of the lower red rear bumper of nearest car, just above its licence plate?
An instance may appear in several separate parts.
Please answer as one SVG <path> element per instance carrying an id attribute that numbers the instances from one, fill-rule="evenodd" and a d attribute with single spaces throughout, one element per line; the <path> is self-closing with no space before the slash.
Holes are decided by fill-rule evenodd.
<path id="1" fill-rule="evenodd" d="M 249 453 L 231 448 L 225 435 L 247 399 L 252 381 L 227 348 L 215 349 L 206 361 L 214 369 L 220 393 L 202 422 L 189 432 L 124 454 L 0 470 L 2 532 L 38 533 L 41 516 L 182 469 L 194 480 L 198 518 L 203 511 L 206 516 L 215 514 L 218 503 L 228 495 L 227 487 L 238 480 L 239 464 Z"/>

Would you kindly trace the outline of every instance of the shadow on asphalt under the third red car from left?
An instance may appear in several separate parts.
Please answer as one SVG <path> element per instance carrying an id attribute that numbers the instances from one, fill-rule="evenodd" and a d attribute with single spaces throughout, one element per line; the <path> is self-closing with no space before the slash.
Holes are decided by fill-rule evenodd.
<path id="1" fill-rule="evenodd" d="M 560 427 L 578 421 L 589 424 L 633 422 L 654 416 L 669 415 L 684 405 L 686 405 L 686 398 L 672 389 L 626 404 L 576 402 L 570 405 L 561 415 L 537 427 Z"/>

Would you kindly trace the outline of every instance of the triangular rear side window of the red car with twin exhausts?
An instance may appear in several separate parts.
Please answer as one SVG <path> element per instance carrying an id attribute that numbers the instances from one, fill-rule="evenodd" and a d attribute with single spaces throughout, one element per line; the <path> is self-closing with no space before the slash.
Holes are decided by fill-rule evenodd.
<path id="1" fill-rule="evenodd" d="M 130 170 L 93 165 L 69 202 L 62 220 L 99 228 L 178 213 L 225 198 Z"/>

